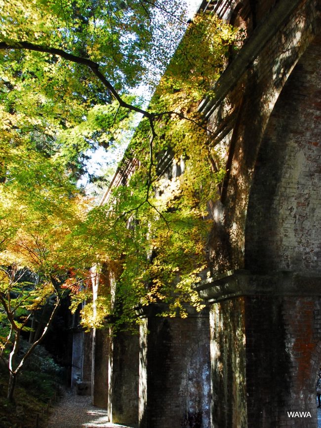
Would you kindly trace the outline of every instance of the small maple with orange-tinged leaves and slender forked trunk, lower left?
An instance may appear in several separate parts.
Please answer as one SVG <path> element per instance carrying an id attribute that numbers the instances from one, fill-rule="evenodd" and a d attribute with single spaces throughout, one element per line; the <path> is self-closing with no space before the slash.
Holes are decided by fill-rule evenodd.
<path id="1" fill-rule="evenodd" d="M 30 148 L 6 153 L 5 181 L 0 187 L 0 354 L 7 357 L 8 398 L 24 362 L 46 335 L 60 305 L 71 266 L 87 274 L 88 260 L 73 259 L 66 248 L 71 229 L 85 216 L 86 202 L 55 159 Z M 15 155 L 15 156 L 14 156 Z M 36 156 L 35 156 L 36 155 Z M 79 252 L 78 252 L 79 256 Z M 18 360 L 21 336 L 30 331 L 32 315 L 48 309 L 39 337 Z"/>

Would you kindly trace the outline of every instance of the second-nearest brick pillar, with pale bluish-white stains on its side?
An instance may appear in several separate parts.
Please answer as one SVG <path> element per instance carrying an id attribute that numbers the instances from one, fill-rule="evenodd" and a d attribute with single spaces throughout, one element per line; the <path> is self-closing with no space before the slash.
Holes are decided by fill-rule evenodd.
<path id="1" fill-rule="evenodd" d="M 140 427 L 208 428 L 208 312 L 187 319 L 150 316 L 147 328 L 145 358 L 141 355 L 145 408 L 142 404 Z"/>

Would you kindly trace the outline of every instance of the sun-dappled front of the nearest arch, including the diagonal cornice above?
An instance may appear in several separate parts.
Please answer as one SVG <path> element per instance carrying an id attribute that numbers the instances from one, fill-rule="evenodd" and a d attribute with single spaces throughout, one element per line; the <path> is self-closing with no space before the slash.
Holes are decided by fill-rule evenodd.
<path id="1" fill-rule="evenodd" d="M 251 187 L 252 183 L 255 185 L 257 156 L 264 144 L 266 127 L 294 68 L 298 69 L 304 62 L 302 58 L 308 57 L 305 52 L 311 46 L 320 43 L 316 38 L 320 27 L 314 0 L 299 4 L 286 21 L 276 24 L 271 34 L 279 12 L 285 13 L 285 3 L 277 2 L 266 20 L 269 25 L 262 22 L 257 27 L 217 82 L 215 98 L 204 100 L 199 108 L 214 135 L 227 135 L 227 172 L 220 201 L 211 206 L 210 213 L 214 222 L 208 254 L 214 276 L 248 266 L 244 256 L 247 211 L 251 209 Z"/>

